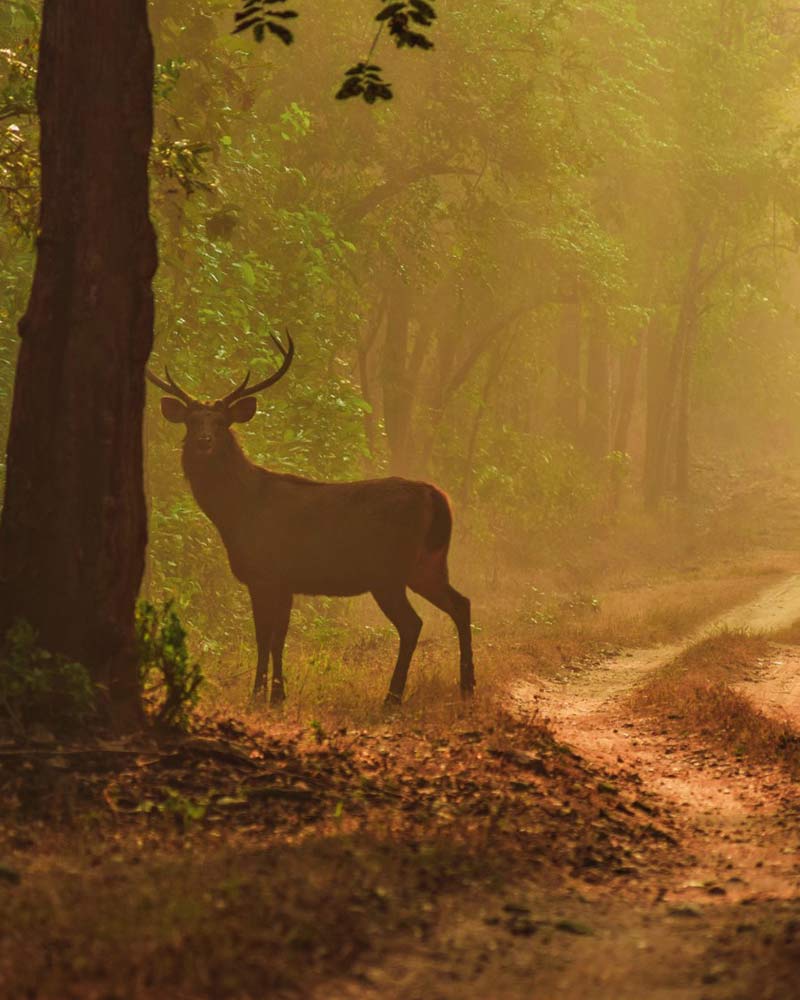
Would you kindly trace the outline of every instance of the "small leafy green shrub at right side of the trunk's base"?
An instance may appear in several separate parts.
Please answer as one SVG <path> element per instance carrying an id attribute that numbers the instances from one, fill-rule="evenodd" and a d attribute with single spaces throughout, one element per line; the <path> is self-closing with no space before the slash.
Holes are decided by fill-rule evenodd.
<path id="1" fill-rule="evenodd" d="M 157 608 L 141 601 L 136 611 L 139 669 L 145 701 L 159 725 L 188 727 L 200 694 L 203 674 L 192 663 L 186 632 L 167 601 Z"/>

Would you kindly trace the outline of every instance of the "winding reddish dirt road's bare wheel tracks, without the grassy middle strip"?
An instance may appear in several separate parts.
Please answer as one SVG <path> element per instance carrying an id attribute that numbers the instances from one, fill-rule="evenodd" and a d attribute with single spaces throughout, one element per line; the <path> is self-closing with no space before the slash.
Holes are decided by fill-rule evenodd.
<path id="1" fill-rule="evenodd" d="M 626 696 L 684 646 L 719 628 L 777 629 L 800 618 L 800 576 L 785 580 L 683 644 L 629 652 L 563 679 L 519 685 L 518 705 L 535 706 L 557 735 L 613 780 L 657 793 L 677 831 L 677 865 L 638 881 L 585 883 L 548 891 L 509 886 L 450 914 L 437 946 L 364 971 L 342 997 L 413 1000 L 774 1000 L 800 997 L 800 979 L 774 983 L 759 966 L 771 938 L 763 927 L 800 925 L 800 796 L 777 768 L 738 764 L 684 746 L 644 724 Z M 747 693 L 800 726 L 800 653 L 779 650 Z M 541 930 L 497 928 L 502 907 L 518 907 Z M 788 933 L 788 932 L 787 932 Z M 766 944 L 765 944 L 766 942 Z M 800 970 L 798 970 L 800 973 Z M 331 994 L 334 996 L 334 994 Z"/>

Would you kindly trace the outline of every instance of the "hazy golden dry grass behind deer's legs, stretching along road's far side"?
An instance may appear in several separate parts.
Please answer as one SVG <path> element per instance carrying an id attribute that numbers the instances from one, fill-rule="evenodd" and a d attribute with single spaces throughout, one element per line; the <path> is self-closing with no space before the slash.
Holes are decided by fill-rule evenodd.
<path id="1" fill-rule="evenodd" d="M 702 508 L 628 511 L 533 550 L 471 535 L 456 513 L 451 576 L 472 599 L 479 700 L 510 679 L 550 676 L 605 650 L 686 638 L 699 626 L 793 572 L 800 477 L 782 468 L 704 483 Z M 769 517 L 765 512 L 769 511 Z M 210 598 L 217 600 L 216 597 Z M 459 718 L 457 643 L 448 619 L 412 597 L 424 620 L 404 712 Z M 219 617 L 219 609 L 210 620 Z M 206 705 L 242 711 L 255 670 L 249 623 L 231 643 L 210 635 L 201 659 Z M 396 636 L 369 597 L 300 599 L 286 655 L 284 718 L 309 724 L 379 724 Z M 262 713 L 263 714 L 263 713 Z"/>

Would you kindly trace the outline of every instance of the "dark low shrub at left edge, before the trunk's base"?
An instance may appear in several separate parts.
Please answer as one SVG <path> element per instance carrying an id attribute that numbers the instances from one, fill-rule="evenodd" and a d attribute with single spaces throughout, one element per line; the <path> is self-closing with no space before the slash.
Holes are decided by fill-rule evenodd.
<path id="1" fill-rule="evenodd" d="M 85 667 L 38 645 L 23 621 L 0 647 L 0 727 L 24 735 L 33 725 L 54 734 L 75 733 L 95 710 L 95 691 Z"/>

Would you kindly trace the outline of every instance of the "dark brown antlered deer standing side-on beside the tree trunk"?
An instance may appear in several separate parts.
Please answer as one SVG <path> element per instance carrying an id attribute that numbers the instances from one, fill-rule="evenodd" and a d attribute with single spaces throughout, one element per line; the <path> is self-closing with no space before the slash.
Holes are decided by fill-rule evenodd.
<path id="1" fill-rule="evenodd" d="M 166 395 L 161 413 L 183 424 L 182 465 L 200 509 L 227 550 L 233 575 L 250 592 L 258 659 L 253 702 L 265 700 L 270 657 L 270 705 L 286 698 L 283 649 L 295 595 L 347 597 L 369 593 L 397 631 L 400 645 L 385 706 L 402 702 L 422 619 L 410 589 L 449 615 L 458 633 L 461 694 L 472 695 L 475 673 L 469 598 L 449 580 L 453 528 L 450 502 L 427 482 L 392 476 L 324 482 L 274 472 L 250 461 L 232 427 L 252 420 L 258 393 L 286 375 L 294 358 L 282 355 L 269 377 L 250 384 L 250 372 L 226 396 L 201 402 L 165 368 L 147 378 Z"/>

